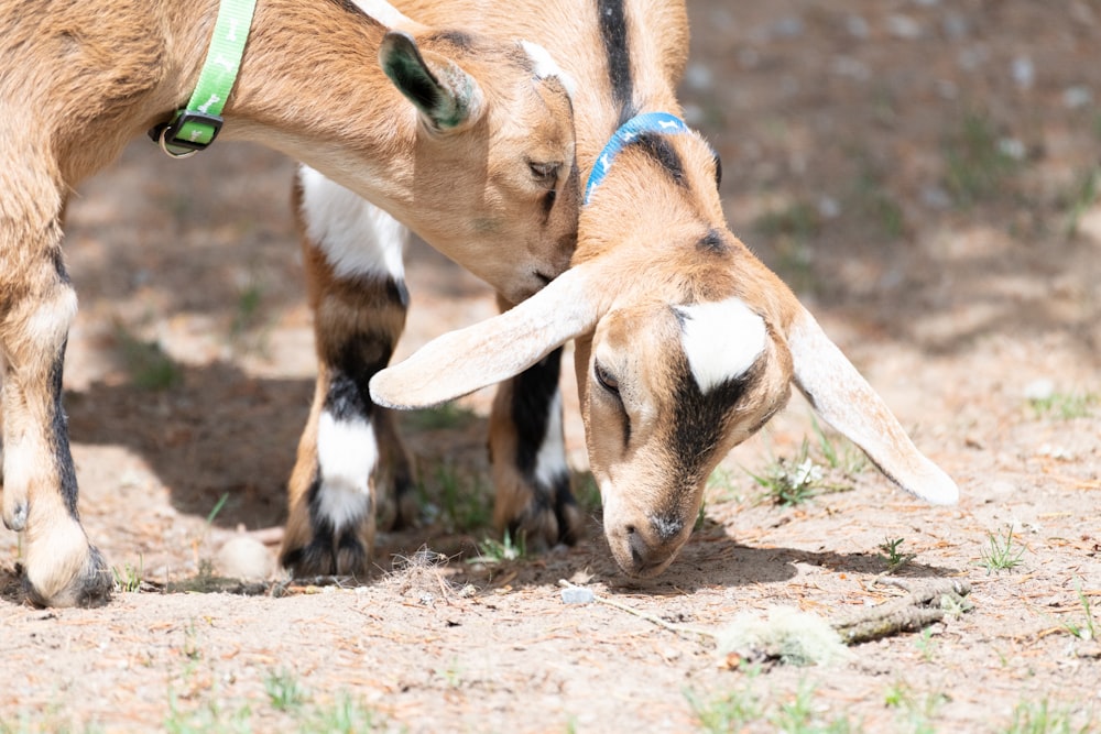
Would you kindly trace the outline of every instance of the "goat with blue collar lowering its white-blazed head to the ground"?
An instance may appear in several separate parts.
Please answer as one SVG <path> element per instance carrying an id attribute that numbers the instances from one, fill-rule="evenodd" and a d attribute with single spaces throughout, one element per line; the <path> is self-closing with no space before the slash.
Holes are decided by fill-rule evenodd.
<path id="1" fill-rule="evenodd" d="M 511 380 L 491 415 L 499 525 L 526 533 L 528 543 L 569 541 L 579 533 L 556 392 L 557 350 L 570 339 L 604 533 L 630 574 L 668 567 L 691 533 L 708 474 L 784 406 L 793 383 L 904 490 L 930 502 L 956 500 L 952 481 L 917 451 L 810 314 L 727 228 L 718 160 L 675 117 L 680 108 L 674 89 L 688 50 L 683 2 L 399 2 L 415 18 L 446 17 L 534 37 L 584 80 L 574 109 L 578 165 L 591 200 L 582 208 L 571 269 L 501 316 L 444 336 L 371 380 L 375 403 L 399 408 L 435 405 Z M 606 149 L 613 135 L 615 143 Z M 307 174 L 304 182 L 307 251 L 323 265 L 331 245 L 319 234 L 336 226 L 326 223 L 331 210 L 312 201 L 340 194 L 320 177 Z M 346 220 L 363 206 L 344 201 Z M 358 221 L 374 224 L 361 232 L 363 239 L 400 251 L 395 231 L 363 215 Z M 400 281 L 401 273 L 391 270 L 390 276 Z M 334 293 L 344 292 L 336 285 L 329 285 Z M 319 338 L 331 333 L 320 318 L 318 329 Z M 318 399 L 324 392 L 319 387 Z M 325 415 L 315 403 L 315 417 L 319 413 Z M 370 425 L 372 415 L 384 416 L 377 410 L 353 425 Z M 407 464 L 390 423 L 377 425 L 379 448 L 356 467 L 359 482 L 367 485 L 363 472 L 377 457 L 399 457 L 375 471 L 380 489 L 401 490 Z M 313 532 L 323 543 L 331 540 L 325 522 L 336 522 L 331 514 L 324 519 L 325 508 L 336 506 L 325 481 L 336 448 L 326 438 L 307 432 L 295 475 L 295 482 L 312 479 Z M 296 490 L 303 496 L 305 486 L 295 482 L 292 499 Z M 295 552 L 284 562 L 301 568 Z"/>

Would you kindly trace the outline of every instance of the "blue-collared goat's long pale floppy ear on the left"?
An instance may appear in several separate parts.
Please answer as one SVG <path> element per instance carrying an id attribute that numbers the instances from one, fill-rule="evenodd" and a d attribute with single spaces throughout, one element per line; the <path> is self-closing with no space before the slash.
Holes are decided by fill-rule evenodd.
<path id="1" fill-rule="evenodd" d="M 592 277 L 581 265 L 537 294 L 480 324 L 438 337 L 371 379 L 371 399 L 423 408 L 520 374 L 600 317 Z"/>

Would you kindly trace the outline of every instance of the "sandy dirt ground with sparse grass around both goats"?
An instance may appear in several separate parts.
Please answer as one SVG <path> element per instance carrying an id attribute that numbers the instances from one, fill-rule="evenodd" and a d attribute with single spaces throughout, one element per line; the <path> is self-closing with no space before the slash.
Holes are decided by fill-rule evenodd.
<path id="1" fill-rule="evenodd" d="M 69 208 L 65 384 L 85 525 L 143 582 L 103 609 L 33 609 L 0 530 L 0 731 L 1101 731 L 1101 2 L 689 10 L 682 99 L 721 153 L 731 228 L 957 479 L 959 505 L 913 501 L 832 438 L 841 467 L 776 504 L 751 472 L 791 474 L 805 440 L 828 463 L 793 399 L 723 462 L 674 566 L 630 583 L 575 401 L 588 540 L 470 562 L 492 538 L 479 394 L 405 416 L 424 517 L 380 539 L 377 579 L 167 587 L 282 522 L 313 343 L 293 164 L 239 144 L 173 162 L 140 141 Z M 493 313 L 427 248 L 410 273 L 402 354 Z M 836 618 L 900 593 L 877 582 L 892 543 L 914 555 L 892 578 L 967 581 L 973 609 L 829 666 L 731 666 L 706 637 L 565 604 L 558 585 L 708 631 L 773 606 Z"/>

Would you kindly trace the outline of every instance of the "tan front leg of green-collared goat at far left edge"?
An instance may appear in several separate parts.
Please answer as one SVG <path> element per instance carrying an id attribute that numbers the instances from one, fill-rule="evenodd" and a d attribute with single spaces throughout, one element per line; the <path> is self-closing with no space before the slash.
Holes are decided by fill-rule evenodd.
<path id="1" fill-rule="evenodd" d="M 23 533 L 23 584 L 32 602 L 95 606 L 107 602 L 113 582 L 80 525 L 62 408 L 76 293 L 61 255 L 59 207 L 48 226 L 9 240 L 13 234 L 0 232 L 3 522 Z"/>

